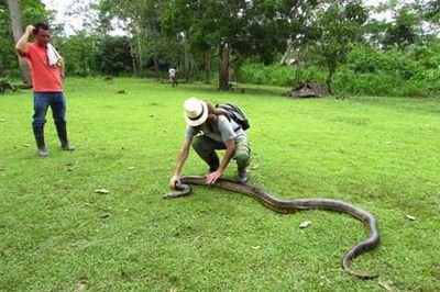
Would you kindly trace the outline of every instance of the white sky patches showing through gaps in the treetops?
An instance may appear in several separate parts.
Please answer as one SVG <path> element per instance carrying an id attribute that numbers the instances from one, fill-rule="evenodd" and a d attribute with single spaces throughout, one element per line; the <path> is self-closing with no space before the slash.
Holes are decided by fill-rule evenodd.
<path id="1" fill-rule="evenodd" d="M 364 3 L 367 5 L 377 5 L 380 2 L 384 0 L 364 0 Z M 80 30 L 82 27 L 82 21 L 80 18 L 74 18 L 66 15 L 66 11 L 72 8 L 73 4 L 81 2 L 81 3 L 90 3 L 97 2 L 97 0 L 42 0 L 42 2 L 46 5 L 47 9 L 52 9 L 56 11 L 56 22 L 64 23 L 64 30 L 66 34 L 74 34 L 75 30 Z M 407 2 L 411 2 L 411 0 L 407 0 Z M 391 13 L 381 13 L 374 15 L 375 19 L 391 19 Z M 122 34 L 122 31 L 116 31 L 112 34 Z"/>

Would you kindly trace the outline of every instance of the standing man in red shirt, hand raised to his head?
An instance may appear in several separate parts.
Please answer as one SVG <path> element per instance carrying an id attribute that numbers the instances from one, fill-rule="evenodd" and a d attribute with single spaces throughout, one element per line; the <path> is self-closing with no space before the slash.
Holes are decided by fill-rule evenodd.
<path id="1" fill-rule="evenodd" d="M 28 40 L 34 36 L 34 42 Z M 75 150 L 67 139 L 66 98 L 63 94 L 64 61 L 50 43 L 51 32 L 47 24 L 28 25 L 22 37 L 16 42 L 16 53 L 26 58 L 32 72 L 34 91 L 34 115 L 32 127 L 38 148 L 38 155 L 46 157 L 48 151 L 44 142 L 46 112 L 52 109 L 56 131 L 63 150 Z"/>

